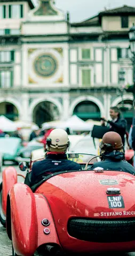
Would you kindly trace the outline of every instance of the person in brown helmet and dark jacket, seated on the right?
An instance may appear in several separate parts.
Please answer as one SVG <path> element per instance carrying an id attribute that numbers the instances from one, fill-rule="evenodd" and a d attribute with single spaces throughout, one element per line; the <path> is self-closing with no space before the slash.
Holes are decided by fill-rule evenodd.
<path id="1" fill-rule="evenodd" d="M 90 170 L 102 167 L 104 170 L 124 171 L 135 175 L 132 165 L 124 160 L 122 139 L 117 132 L 105 133 L 99 147 L 101 162 L 94 163 Z"/>

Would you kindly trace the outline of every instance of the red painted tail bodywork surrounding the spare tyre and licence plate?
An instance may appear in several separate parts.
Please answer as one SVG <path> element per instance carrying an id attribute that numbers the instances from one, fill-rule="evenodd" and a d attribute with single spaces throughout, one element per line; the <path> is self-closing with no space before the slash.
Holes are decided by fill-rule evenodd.
<path id="1" fill-rule="evenodd" d="M 117 185 L 101 185 L 99 180 L 114 179 Z M 118 187 L 124 198 L 125 208 L 110 209 L 106 190 Z M 118 171 L 78 171 L 54 176 L 44 182 L 36 193 L 44 194 L 53 214 L 60 244 L 64 250 L 72 252 L 101 252 L 110 250 L 132 251 L 135 242 L 93 243 L 70 237 L 67 222 L 70 217 L 90 219 L 118 219 L 135 217 L 135 178 L 133 175 Z M 120 213 L 120 216 L 108 216 L 109 213 Z M 129 215 L 126 213 L 129 212 Z M 99 216 L 95 217 L 94 214 Z M 108 214 L 107 214 L 108 213 Z"/>

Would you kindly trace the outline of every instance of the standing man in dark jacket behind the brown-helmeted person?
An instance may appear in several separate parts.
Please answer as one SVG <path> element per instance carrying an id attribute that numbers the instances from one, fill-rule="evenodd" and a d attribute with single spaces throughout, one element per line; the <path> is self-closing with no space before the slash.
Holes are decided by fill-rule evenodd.
<path id="1" fill-rule="evenodd" d="M 106 120 L 104 117 L 101 118 L 101 125 L 106 125 L 110 132 L 117 132 L 122 138 L 123 146 L 125 145 L 125 134 L 126 134 L 126 120 L 121 118 L 121 112 L 117 107 L 110 107 L 111 121 Z"/>

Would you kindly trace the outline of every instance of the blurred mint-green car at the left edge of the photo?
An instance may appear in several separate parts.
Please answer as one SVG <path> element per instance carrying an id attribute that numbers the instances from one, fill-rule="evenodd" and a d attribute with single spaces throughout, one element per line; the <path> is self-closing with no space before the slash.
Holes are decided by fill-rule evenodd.
<path id="1" fill-rule="evenodd" d="M 4 165 L 5 161 L 12 161 L 15 163 L 15 157 L 17 156 L 21 148 L 22 145 L 20 138 L 0 138 L 0 153 L 2 165 Z"/>

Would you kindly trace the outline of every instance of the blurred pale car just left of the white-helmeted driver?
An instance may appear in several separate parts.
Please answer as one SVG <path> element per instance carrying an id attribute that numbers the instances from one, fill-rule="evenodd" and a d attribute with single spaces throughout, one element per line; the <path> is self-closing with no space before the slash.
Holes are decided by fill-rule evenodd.
<path id="1" fill-rule="evenodd" d="M 34 150 L 37 149 L 43 149 L 44 150 L 44 145 L 42 143 L 37 142 L 37 138 L 31 140 L 30 142 L 28 142 L 27 146 L 21 148 L 17 154 L 17 156 L 15 157 L 15 161 L 17 163 L 20 162 L 30 162 L 30 156 L 31 156 L 31 152 L 33 152 Z"/>

